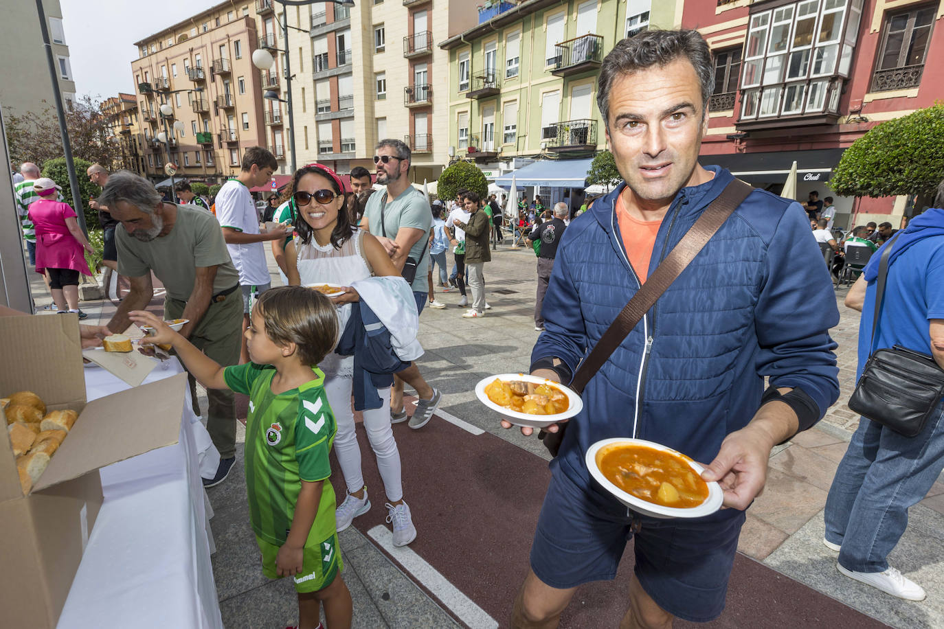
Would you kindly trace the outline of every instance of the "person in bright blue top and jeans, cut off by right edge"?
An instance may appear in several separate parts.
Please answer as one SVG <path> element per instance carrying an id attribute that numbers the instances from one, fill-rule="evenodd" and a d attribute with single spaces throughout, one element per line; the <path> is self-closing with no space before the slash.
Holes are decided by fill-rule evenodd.
<path id="1" fill-rule="evenodd" d="M 874 350 L 895 345 L 934 356 L 944 369 L 944 182 L 935 206 L 869 258 L 846 296 L 846 306 L 862 311 L 856 379 Z M 885 297 L 870 342 L 879 262 L 889 246 Z M 908 525 L 908 507 L 924 498 L 942 469 L 944 401 L 915 437 L 860 418 L 826 500 L 823 543 L 839 553 L 836 570 L 893 596 L 924 600 L 924 588 L 889 566 L 887 556 Z"/>

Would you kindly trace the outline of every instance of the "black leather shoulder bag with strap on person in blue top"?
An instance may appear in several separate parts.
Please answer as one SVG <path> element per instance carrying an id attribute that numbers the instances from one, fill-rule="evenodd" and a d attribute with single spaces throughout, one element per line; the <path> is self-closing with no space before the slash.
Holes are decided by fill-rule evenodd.
<path id="1" fill-rule="evenodd" d="M 888 258 L 898 236 L 896 234 L 888 242 L 879 260 L 875 318 L 869 348 L 875 342 L 875 330 L 885 297 Z M 904 437 L 915 437 L 924 428 L 941 397 L 944 397 L 944 370 L 935 359 L 895 345 L 891 349 L 875 350 L 868 356 L 865 369 L 849 398 L 849 407 Z"/>

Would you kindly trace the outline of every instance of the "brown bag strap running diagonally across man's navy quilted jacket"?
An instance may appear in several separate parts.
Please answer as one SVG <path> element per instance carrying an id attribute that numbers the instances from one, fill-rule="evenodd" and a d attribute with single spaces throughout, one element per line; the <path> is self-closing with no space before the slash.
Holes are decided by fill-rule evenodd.
<path id="1" fill-rule="evenodd" d="M 689 262 L 698 256 L 721 224 L 748 198 L 752 190 L 753 188 L 740 179 L 734 179 L 725 186 L 724 190 L 721 190 L 721 194 L 701 212 L 698 221 L 649 275 L 649 279 L 642 288 L 632 295 L 632 299 L 599 338 L 589 356 L 583 359 L 570 382 L 570 389 L 574 389 L 578 395 L 583 393 L 583 388 L 603 366 L 603 363 L 610 358 L 616 347 L 629 336 L 632 328 L 649 312 L 649 308 L 655 305 L 662 293 L 685 270 Z M 556 433 L 548 433 L 544 430 L 538 433 L 538 439 L 544 441 L 551 456 L 557 456 L 560 451 L 568 425 L 570 422 L 558 424 Z"/>

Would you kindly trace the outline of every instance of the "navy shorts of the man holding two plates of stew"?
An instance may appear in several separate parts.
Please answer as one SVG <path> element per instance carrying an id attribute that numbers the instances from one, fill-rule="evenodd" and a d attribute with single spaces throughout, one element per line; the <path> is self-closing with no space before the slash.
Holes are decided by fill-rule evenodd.
<path id="1" fill-rule="evenodd" d="M 633 516 L 602 500 L 554 471 L 531 546 L 534 574 L 561 589 L 612 580 L 633 538 L 633 570 L 656 604 L 685 621 L 716 619 L 724 609 L 744 513 L 723 521 L 635 516 L 641 528 L 633 534 Z"/>

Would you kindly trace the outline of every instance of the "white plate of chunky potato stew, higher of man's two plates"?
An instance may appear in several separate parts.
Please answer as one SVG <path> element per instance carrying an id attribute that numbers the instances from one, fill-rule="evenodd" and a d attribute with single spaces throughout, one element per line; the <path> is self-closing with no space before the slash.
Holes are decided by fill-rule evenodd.
<path id="1" fill-rule="evenodd" d="M 475 387 L 480 402 L 518 426 L 545 428 L 581 412 L 581 397 L 565 386 L 525 373 L 499 373 Z"/>

